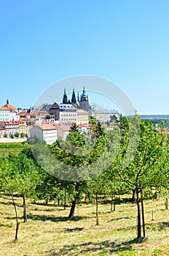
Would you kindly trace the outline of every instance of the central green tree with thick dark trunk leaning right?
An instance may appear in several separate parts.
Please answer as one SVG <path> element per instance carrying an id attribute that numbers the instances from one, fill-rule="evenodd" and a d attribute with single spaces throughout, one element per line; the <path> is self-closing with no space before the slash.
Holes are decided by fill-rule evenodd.
<path id="1" fill-rule="evenodd" d="M 101 157 L 106 148 L 106 133 L 101 123 L 91 119 L 90 124 L 92 129 L 88 135 L 82 135 L 76 124 L 74 124 L 71 127 L 67 141 L 60 140 L 60 142 L 50 146 L 52 154 L 66 165 L 64 173 L 67 172 L 68 176 L 71 177 L 69 181 L 63 180 L 61 182 L 63 187 L 66 187 L 68 195 L 72 197 L 69 219 L 74 218 L 76 203 L 87 187 L 89 176 L 87 176 L 86 172 L 90 173 L 90 165 Z M 77 180 L 76 177 L 78 177 Z"/>

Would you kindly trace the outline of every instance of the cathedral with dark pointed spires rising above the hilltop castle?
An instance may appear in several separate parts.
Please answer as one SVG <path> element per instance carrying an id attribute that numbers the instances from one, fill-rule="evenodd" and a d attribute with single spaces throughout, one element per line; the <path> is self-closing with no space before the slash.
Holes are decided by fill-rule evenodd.
<path id="1" fill-rule="evenodd" d="M 85 90 L 85 87 L 83 86 L 83 91 L 82 94 L 79 97 L 79 92 L 77 94 L 77 100 L 76 100 L 76 95 L 73 89 L 72 96 L 71 96 L 71 101 L 68 99 L 66 95 L 66 89 L 64 89 L 64 94 L 63 94 L 63 104 L 72 104 L 74 105 L 75 108 L 77 109 L 82 109 L 84 111 L 90 111 L 91 107 L 89 105 L 89 99 Z"/>

